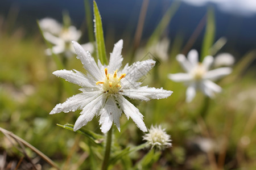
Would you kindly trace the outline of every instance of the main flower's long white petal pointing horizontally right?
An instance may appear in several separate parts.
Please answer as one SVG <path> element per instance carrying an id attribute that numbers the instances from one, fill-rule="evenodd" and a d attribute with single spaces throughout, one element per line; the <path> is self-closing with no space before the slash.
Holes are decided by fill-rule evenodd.
<path id="1" fill-rule="evenodd" d="M 172 91 L 163 90 L 163 88 L 154 87 L 139 87 L 137 89 L 123 90 L 122 95 L 128 96 L 131 99 L 137 100 L 150 100 L 150 99 L 163 99 L 171 96 Z"/>

